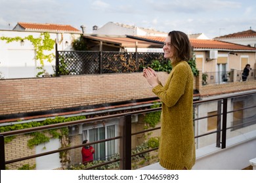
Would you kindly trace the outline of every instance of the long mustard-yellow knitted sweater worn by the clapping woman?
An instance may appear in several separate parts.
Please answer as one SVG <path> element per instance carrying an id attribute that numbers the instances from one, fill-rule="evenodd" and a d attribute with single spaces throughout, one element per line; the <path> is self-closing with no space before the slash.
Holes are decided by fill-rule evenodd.
<path id="1" fill-rule="evenodd" d="M 192 169 L 196 161 L 193 79 L 190 66 L 181 61 L 173 65 L 165 86 L 152 90 L 162 102 L 159 158 L 165 169 Z"/>

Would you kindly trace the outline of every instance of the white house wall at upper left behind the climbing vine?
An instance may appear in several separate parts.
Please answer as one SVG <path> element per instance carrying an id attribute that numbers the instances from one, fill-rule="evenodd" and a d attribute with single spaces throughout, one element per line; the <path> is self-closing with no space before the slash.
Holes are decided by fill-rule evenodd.
<path id="1" fill-rule="evenodd" d="M 40 37 L 40 32 L 31 31 L 3 31 L 0 30 L 0 37 Z M 51 39 L 58 42 L 58 50 L 71 50 L 71 43 L 80 37 L 80 34 L 50 33 Z M 51 52 L 55 55 L 55 46 Z M 36 67 L 40 66 L 35 60 L 35 51 L 30 41 L 25 40 L 24 45 L 18 42 L 0 40 L 0 75 L 4 78 L 33 78 L 39 72 Z M 55 59 L 51 63 L 45 61 L 45 70 L 50 75 L 54 74 L 53 67 Z"/>

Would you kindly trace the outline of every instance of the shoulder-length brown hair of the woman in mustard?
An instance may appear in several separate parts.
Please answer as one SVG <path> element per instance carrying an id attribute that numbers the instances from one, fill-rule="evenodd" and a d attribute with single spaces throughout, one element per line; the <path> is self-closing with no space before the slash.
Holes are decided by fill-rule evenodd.
<path id="1" fill-rule="evenodd" d="M 171 46 L 173 47 L 172 62 L 189 61 L 192 58 L 192 46 L 188 36 L 181 31 L 171 31 L 168 36 L 171 37 Z"/>

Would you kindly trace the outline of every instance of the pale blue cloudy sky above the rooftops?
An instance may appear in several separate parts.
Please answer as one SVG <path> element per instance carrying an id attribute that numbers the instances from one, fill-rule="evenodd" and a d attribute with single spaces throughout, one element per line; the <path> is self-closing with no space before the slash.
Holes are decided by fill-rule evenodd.
<path id="1" fill-rule="evenodd" d="M 255 0 L 0 0 L 0 30 L 18 22 L 72 25 L 86 33 L 108 22 L 209 39 L 253 29 Z"/>

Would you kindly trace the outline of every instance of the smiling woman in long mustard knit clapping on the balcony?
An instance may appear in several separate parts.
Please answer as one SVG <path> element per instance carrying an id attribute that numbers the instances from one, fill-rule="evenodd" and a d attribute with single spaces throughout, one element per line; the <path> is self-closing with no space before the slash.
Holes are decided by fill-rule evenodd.
<path id="1" fill-rule="evenodd" d="M 173 67 L 165 86 L 150 67 L 143 76 L 162 102 L 159 158 L 165 169 L 192 169 L 196 161 L 193 128 L 193 73 L 188 65 L 192 48 L 188 36 L 171 31 L 163 46 Z"/>

